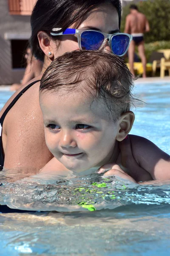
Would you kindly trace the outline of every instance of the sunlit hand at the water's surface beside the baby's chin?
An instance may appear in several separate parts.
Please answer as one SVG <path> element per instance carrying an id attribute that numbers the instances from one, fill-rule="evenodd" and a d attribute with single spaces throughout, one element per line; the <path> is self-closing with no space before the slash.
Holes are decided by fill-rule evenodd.
<path id="1" fill-rule="evenodd" d="M 106 172 L 108 171 L 108 172 Z M 133 179 L 133 177 L 130 177 L 126 172 L 124 172 L 119 165 L 116 163 L 108 163 L 104 166 L 101 166 L 98 173 L 104 173 L 103 177 L 116 177 L 123 180 L 127 180 L 133 183 L 136 183 L 136 181 Z"/>

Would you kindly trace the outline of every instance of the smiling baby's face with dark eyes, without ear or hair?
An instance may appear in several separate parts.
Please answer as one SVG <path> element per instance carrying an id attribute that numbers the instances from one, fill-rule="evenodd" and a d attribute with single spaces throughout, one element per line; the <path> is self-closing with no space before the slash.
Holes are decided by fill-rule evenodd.
<path id="1" fill-rule="evenodd" d="M 46 144 L 72 171 L 115 161 L 118 121 L 109 118 L 102 99 L 93 99 L 80 90 L 40 94 Z"/>

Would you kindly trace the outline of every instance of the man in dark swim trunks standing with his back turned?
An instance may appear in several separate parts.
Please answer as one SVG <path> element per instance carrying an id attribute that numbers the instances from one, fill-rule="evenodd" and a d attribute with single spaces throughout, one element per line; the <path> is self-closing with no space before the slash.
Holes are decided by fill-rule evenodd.
<path id="1" fill-rule="evenodd" d="M 138 7 L 134 4 L 130 6 L 130 14 L 126 17 L 125 33 L 131 34 L 133 40 L 128 50 L 130 72 L 135 75 L 133 62 L 135 46 L 138 47 L 139 57 L 143 65 L 143 77 L 146 77 L 146 56 L 144 53 L 144 32 L 149 32 L 150 27 L 148 20 L 144 14 L 138 11 Z"/>

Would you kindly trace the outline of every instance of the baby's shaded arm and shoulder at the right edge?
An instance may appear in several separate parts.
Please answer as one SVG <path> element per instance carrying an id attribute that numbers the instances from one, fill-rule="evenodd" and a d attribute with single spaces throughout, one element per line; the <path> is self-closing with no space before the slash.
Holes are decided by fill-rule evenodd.
<path id="1" fill-rule="evenodd" d="M 120 148 L 122 158 L 123 151 L 126 150 L 127 152 L 127 159 L 123 165 L 126 165 L 125 167 L 128 169 L 131 168 L 130 165 L 133 166 L 132 159 L 130 160 L 130 157 L 128 157 L 131 151 L 139 168 L 147 171 L 153 180 L 170 180 L 170 156 L 150 140 L 136 135 L 129 135 L 128 139 L 122 142 Z"/>

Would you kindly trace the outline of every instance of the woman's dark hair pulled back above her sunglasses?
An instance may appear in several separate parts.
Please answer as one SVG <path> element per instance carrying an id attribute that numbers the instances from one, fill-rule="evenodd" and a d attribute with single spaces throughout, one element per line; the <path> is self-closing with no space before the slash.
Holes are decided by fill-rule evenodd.
<path id="1" fill-rule="evenodd" d="M 37 0 L 31 15 L 31 38 L 29 41 L 32 55 L 40 61 L 44 60 L 37 33 L 45 31 L 48 35 L 53 28 L 65 30 L 74 22 L 78 22 L 84 15 L 102 3 L 112 3 L 121 20 L 120 0 Z M 54 37 L 53 37 L 54 38 Z M 57 36 L 57 40 L 60 37 Z"/>

